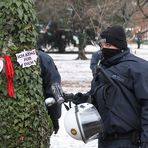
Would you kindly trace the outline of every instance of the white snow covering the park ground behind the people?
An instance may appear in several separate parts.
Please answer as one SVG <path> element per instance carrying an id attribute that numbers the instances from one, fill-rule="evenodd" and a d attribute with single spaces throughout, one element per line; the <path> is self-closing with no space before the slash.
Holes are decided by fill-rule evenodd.
<path id="1" fill-rule="evenodd" d="M 148 60 L 148 45 L 142 45 L 136 49 L 136 44 L 129 45 L 131 52 Z M 75 49 L 73 49 L 75 50 Z M 86 51 L 97 51 L 98 47 L 87 46 Z M 91 54 L 87 54 L 88 60 L 75 60 L 77 54 L 50 54 L 62 78 L 62 88 L 67 93 L 87 92 L 92 80 L 90 66 Z M 60 118 L 60 129 L 56 135 L 51 136 L 51 148 L 97 148 L 97 140 L 87 144 L 71 138 L 64 129 L 64 116 L 66 109 L 63 106 Z"/>

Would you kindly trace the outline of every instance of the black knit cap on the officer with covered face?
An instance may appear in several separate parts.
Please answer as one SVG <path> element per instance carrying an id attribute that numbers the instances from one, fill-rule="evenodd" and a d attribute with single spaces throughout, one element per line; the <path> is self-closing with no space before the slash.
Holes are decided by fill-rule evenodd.
<path id="1" fill-rule="evenodd" d="M 121 50 L 127 50 L 126 34 L 122 26 L 115 25 L 108 27 L 100 34 L 102 39 L 106 39 L 106 43 L 110 43 Z"/>

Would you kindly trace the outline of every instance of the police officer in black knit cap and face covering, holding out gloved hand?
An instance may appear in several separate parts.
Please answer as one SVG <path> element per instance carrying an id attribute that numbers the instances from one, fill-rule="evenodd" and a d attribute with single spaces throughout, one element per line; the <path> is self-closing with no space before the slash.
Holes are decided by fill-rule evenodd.
<path id="1" fill-rule="evenodd" d="M 79 104 L 91 96 L 104 124 L 99 148 L 148 148 L 148 62 L 130 53 L 122 26 L 100 36 L 103 59 L 91 90 L 65 99 Z"/>

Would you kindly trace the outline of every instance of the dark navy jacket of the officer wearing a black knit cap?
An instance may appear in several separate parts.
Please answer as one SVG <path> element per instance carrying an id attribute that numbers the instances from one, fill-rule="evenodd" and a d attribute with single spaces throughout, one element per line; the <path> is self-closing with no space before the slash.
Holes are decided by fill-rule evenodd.
<path id="1" fill-rule="evenodd" d="M 102 68 L 113 83 L 99 72 L 90 92 L 105 132 L 139 130 L 141 142 L 148 142 L 148 62 L 124 51 Z"/>

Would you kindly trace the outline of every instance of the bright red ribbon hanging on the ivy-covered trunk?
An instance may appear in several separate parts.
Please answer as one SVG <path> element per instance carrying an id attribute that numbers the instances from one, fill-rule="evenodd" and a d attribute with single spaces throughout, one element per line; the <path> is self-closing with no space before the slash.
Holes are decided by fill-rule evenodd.
<path id="1" fill-rule="evenodd" d="M 6 75 L 6 81 L 7 81 L 7 91 L 8 95 L 10 97 L 14 97 L 14 89 L 13 89 L 13 77 L 14 77 L 14 69 L 13 69 L 13 64 L 11 61 L 10 56 L 5 55 L 3 56 L 5 59 L 5 75 Z"/>

